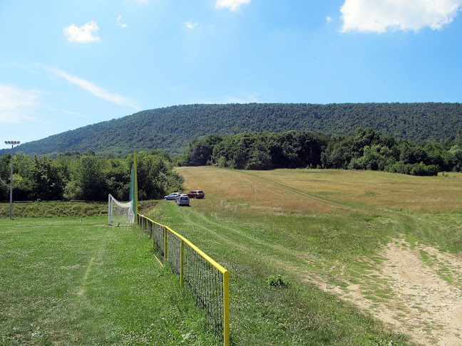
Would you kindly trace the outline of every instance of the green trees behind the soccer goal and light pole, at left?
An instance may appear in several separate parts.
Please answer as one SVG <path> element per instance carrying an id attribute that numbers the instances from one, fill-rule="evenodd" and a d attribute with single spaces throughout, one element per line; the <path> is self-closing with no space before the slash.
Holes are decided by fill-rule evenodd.
<path id="1" fill-rule="evenodd" d="M 173 171 L 168 154 L 139 152 L 138 198 L 160 199 L 182 189 L 183 177 Z M 11 155 L 0 157 L 0 201 L 9 199 Z M 128 201 L 133 154 L 97 157 L 94 152 L 67 152 L 56 157 L 29 157 L 17 152 L 13 157 L 13 195 L 16 201 L 61 201 L 85 199 L 106 201 L 112 194 Z"/>

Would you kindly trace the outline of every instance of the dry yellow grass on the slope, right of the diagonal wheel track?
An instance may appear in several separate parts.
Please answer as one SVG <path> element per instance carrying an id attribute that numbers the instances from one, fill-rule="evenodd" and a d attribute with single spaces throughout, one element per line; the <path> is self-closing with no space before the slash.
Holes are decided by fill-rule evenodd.
<path id="1" fill-rule="evenodd" d="M 373 171 L 280 169 L 254 174 L 342 204 L 436 212 L 462 208 L 460 173 L 414 177 Z"/>

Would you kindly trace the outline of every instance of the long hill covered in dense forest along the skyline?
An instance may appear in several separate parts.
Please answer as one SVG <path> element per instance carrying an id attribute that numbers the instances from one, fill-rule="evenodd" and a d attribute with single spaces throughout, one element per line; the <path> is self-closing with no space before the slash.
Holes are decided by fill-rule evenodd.
<path id="1" fill-rule="evenodd" d="M 329 105 L 251 103 L 179 105 L 100 122 L 25 143 L 14 152 L 57 154 L 93 150 L 125 154 L 160 149 L 183 153 L 193 138 L 209 134 L 305 130 L 353 135 L 372 127 L 382 135 L 415 142 L 443 142 L 462 129 L 461 103 L 342 103 Z M 4 154 L 6 150 L 0 151 Z"/>

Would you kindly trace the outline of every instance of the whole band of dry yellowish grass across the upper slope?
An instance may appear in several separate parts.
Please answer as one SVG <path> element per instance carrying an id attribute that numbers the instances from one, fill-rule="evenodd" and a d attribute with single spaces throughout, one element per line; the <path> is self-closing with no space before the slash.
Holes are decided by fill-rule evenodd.
<path id="1" fill-rule="evenodd" d="M 215 167 L 178 167 L 178 172 L 185 177 L 187 189 L 203 189 L 212 199 L 221 196 L 217 202 L 227 208 L 322 214 L 344 206 L 436 213 L 462 209 L 461 173 L 413 177 L 371 171 Z"/>

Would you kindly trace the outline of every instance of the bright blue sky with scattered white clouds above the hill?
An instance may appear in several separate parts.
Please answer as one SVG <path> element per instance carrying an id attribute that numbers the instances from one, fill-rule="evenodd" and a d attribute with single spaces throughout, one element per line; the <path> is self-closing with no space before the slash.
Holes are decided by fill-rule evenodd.
<path id="1" fill-rule="evenodd" d="M 193 103 L 462 102 L 462 0 L 1 0 L 0 148 Z"/>

